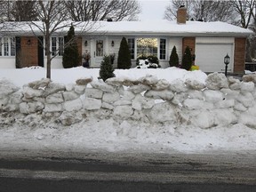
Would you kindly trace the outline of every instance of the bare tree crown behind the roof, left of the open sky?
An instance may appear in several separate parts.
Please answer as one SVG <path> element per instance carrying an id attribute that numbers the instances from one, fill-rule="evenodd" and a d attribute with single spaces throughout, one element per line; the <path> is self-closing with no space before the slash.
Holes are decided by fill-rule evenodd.
<path id="1" fill-rule="evenodd" d="M 65 2 L 71 20 L 135 20 L 140 13 L 136 0 L 79 0 Z"/>

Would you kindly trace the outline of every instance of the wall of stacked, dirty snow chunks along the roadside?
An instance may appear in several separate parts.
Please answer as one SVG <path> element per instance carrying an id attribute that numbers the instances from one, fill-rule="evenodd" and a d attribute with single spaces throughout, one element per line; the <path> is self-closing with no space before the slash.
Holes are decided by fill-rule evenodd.
<path id="1" fill-rule="evenodd" d="M 0 124 L 12 124 L 19 114 L 42 116 L 45 124 L 71 125 L 93 116 L 201 128 L 228 124 L 256 128 L 255 84 L 256 75 L 243 76 L 240 81 L 219 73 L 207 76 L 205 84 L 189 79 L 169 83 L 145 76 L 136 81 L 114 77 L 106 82 L 84 78 L 76 84 L 42 79 L 20 89 L 1 80 L 1 116 L 12 118 Z"/>

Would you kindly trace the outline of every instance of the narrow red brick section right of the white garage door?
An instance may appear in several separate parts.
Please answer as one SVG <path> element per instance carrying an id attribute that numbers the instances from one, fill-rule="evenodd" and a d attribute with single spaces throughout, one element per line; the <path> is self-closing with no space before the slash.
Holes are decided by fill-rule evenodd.
<path id="1" fill-rule="evenodd" d="M 235 58 L 234 58 L 234 72 L 244 73 L 245 66 L 245 48 L 246 38 L 236 37 L 235 38 Z"/>

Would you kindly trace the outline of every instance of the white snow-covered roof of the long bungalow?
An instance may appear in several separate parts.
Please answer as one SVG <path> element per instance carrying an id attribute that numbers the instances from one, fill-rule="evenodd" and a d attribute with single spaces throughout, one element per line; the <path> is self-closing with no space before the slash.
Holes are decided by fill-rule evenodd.
<path id="1" fill-rule="evenodd" d="M 75 26 L 78 35 L 99 35 L 108 36 L 249 36 L 252 31 L 240 28 L 225 22 L 200 22 L 187 21 L 186 24 L 178 24 L 169 20 L 144 20 L 144 21 L 97 21 L 97 22 L 74 22 L 67 21 L 68 27 L 56 31 L 57 34 L 67 34 L 71 23 Z M 14 25 L 13 25 L 14 23 Z M 36 24 L 39 26 L 40 21 Z M 2 24 L 3 25 L 3 24 Z M 12 22 L 6 25 L 8 28 L 1 28 L 1 32 L 15 35 L 32 35 L 31 28 L 35 34 L 42 34 L 36 26 L 29 27 L 26 22 Z"/>

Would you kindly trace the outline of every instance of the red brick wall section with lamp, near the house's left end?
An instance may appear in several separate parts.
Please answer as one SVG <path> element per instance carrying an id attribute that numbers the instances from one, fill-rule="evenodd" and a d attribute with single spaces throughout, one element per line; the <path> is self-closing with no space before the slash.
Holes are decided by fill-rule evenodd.
<path id="1" fill-rule="evenodd" d="M 28 41 L 30 40 L 30 44 Z M 20 37 L 20 67 L 38 66 L 37 38 L 22 36 Z"/>

